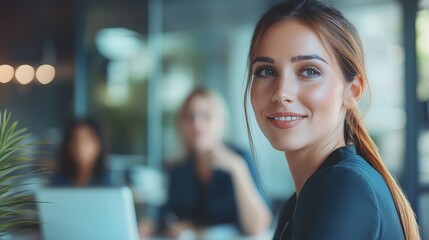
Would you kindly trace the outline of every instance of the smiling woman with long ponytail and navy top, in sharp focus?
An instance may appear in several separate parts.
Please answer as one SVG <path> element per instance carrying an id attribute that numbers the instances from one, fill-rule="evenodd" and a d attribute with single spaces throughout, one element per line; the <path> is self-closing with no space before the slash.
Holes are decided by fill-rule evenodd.
<path id="1" fill-rule="evenodd" d="M 359 115 L 363 49 L 343 15 L 315 0 L 274 6 L 256 25 L 248 64 L 245 104 L 285 153 L 296 189 L 274 239 L 420 239 Z"/>

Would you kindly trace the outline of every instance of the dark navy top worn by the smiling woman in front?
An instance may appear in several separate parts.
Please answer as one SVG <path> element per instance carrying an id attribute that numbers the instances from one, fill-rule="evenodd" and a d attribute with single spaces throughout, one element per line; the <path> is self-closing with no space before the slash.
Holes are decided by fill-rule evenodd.
<path id="1" fill-rule="evenodd" d="M 402 225 L 382 176 L 354 145 L 332 152 L 283 208 L 274 240 L 402 240 Z"/>

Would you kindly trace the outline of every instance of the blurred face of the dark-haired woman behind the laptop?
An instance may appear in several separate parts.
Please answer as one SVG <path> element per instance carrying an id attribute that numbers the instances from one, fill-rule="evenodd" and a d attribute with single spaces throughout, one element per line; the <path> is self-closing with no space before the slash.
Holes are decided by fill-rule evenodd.
<path id="1" fill-rule="evenodd" d="M 94 131 L 86 126 L 78 126 L 72 135 L 69 152 L 79 166 L 92 166 L 101 151 L 101 143 Z"/>

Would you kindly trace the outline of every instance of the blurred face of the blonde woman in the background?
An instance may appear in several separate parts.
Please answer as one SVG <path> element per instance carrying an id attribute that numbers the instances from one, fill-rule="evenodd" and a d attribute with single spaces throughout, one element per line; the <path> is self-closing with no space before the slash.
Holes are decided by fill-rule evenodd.
<path id="1" fill-rule="evenodd" d="M 209 97 L 195 96 L 182 116 L 186 144 L 193 151 L 211 151 L 221 141 L 222 115 Z"/>

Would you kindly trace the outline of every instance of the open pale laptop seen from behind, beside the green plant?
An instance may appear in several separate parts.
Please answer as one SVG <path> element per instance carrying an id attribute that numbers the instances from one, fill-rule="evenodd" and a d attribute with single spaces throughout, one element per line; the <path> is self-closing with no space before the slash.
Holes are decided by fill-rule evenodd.
<path id="1" fill-rule="evenodd" d="M 138 240 L 129 188 L 43 188 L 36 192 L 45 240 Z"/>

